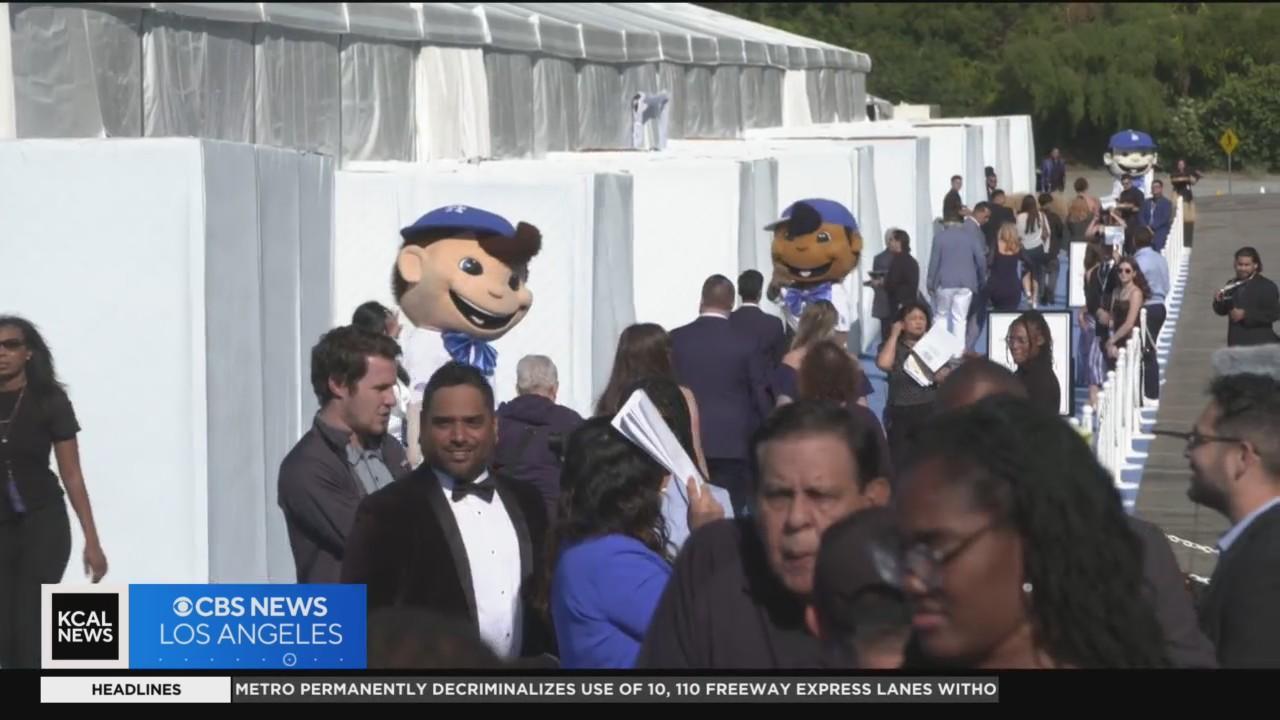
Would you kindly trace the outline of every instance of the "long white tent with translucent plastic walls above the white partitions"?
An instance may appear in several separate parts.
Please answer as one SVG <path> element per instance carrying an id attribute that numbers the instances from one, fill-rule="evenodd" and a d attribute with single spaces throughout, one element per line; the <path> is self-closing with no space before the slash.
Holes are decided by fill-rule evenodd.
<path id="1" fill-rule="evenodd" d="M 860 53 L 690 4 L 0 10 L 0 137 L 187 136 L 343 163 L 626 149 L 637 91 L 671 92 L 672 137 L 858 120 L 870 70 Z M 785 78 L 805 91 L 785 101 Z"/>

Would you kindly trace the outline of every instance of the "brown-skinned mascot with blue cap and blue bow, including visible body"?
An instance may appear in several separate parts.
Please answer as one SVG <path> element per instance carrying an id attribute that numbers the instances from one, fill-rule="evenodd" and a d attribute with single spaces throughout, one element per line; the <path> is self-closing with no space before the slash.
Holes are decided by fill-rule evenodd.
<path id="1" fill-rule="evenodd" d="M 768 297 L 774 302 L 781 297 L 787 327 L 795 332 L 804 309 L 826 300 L 840 314 L 836 332 L 847 334 L 851 313 L 844 279 L 863 252 L 854 214 L 835 200 L 799 200 L 764 229 L 773 232 Z"/>

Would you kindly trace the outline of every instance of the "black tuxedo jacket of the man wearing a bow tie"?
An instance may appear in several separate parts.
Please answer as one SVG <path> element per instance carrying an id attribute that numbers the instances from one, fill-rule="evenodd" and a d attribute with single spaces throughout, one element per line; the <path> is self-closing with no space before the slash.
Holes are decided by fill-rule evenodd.
<path id="1" fill-rule="evenodd" d="M 534 603 L 538 583 L 544 578 L 543 498 L 527 483 L 495 477 L 495 484 L 520 541 L 525 601 L 521 655 L 549 652 L 553 635 Z M 440 480 L 426 464 L 360 503 L 347 539 L 342 582 L 367 585 L 370 611 L 385 606 L 425 607 L 480 632 L 471 564 L 458 521 Z"/>

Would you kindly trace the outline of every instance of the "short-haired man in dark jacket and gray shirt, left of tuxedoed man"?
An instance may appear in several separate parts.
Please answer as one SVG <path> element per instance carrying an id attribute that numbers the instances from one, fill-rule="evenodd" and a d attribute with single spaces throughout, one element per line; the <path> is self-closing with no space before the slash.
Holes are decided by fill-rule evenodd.
<path id="1" fill-rule="evenodd" d="M 387 433 L 398 355 L 390 337 L 351 325 L 311 350 L 320 413 L 280 462 L 278 492 L 300 583 L 340 582 L 360 501 L 410 473 L 404 448 Z"/>

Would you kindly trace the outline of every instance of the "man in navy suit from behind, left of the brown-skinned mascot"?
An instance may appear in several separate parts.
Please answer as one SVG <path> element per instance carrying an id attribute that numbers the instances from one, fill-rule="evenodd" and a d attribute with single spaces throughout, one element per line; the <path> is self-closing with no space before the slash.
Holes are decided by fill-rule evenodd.
<path id="1" fill-rule="evenodd" d="M 703 454 L 710 482 L 728 491 L 733 514 L 746 511 L 751 434 L 768 415 L 764 361 L 755 341 L 733 329 L 733 283 L 703 283 L 699 316 L 671 332 L 676 378 L 698 400 Z"/>

